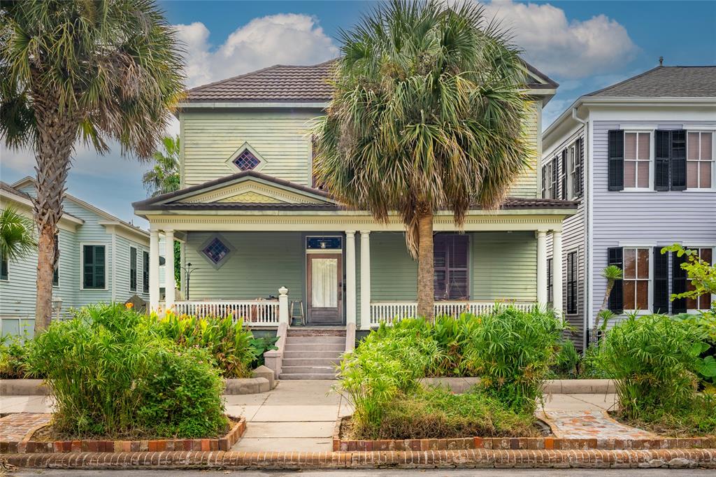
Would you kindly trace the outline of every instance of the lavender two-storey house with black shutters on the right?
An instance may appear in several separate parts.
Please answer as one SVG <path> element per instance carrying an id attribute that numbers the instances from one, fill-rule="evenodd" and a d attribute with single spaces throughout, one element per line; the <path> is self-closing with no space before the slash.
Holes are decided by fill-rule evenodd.
<path id="1" fill-rule="evenodd" d="M 690 284 L 682 259 L 660 253 L 679 243 L 716 258 L 715 150 L 714 66 L 649 69 L 580 97 L 546 129 L 542 196 L 579 201 L 561 244 L 564 316 L 577 347 L 589 339 L 609 264 L 624 270 L 609 297 L 620 317 L 697 312 L 716 299 L 671 302 Z M 551 238 L 547 256 L 551 274 Z"/>

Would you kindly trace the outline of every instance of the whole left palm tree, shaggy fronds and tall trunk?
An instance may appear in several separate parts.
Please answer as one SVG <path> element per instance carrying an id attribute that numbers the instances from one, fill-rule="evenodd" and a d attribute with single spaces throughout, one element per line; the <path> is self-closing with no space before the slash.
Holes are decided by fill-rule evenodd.
<path id="1" fill-rule="evenodd" d="M 77 140 L 150 158 L 183 94 L 179 53 L 153 0 L 2 2 L 0 136 L 37 160 L 36 333 L 52 312 L 53 240 Z"/>

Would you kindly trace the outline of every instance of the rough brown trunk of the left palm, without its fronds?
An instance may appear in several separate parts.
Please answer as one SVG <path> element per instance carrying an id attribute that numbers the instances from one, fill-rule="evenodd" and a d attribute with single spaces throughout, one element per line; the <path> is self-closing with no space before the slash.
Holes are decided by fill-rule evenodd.
<path id="1" fill-rule="evenodd" d="M 39 231 L 37 250 L 37 302 L 35 335 L 42 333 L 52 319 L 52 272 L 54 271 L 54 236 L 62 217 L 69 155 L 77 136 L 79 121 L 68 120 L 59 112 L 58 101 L 40 97 L 36 100 L 37 120 L 37 198 L 34 201 L 35 223 Z"/>

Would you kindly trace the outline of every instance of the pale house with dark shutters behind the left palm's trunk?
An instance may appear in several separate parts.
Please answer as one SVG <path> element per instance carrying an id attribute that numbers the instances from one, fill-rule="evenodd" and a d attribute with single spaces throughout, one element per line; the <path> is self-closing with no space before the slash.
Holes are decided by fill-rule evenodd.
<path id="1" fill-rule="evenodd" d="M 34 180 L 0 183 L 0 208 L 13 206 L 32 217 Z M 54 316 L 97 302 L 149 299 L 149 233 L 70 194 L 57 234 L 52 301 Z M 0 335 L 32 336 L 37 253 L 1 260 Z"/>

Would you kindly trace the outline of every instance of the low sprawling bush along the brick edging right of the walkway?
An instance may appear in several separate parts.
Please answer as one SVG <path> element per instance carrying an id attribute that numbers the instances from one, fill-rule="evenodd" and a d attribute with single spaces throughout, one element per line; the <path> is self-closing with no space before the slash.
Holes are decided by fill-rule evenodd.
<path id="1" fill-rule="evenodd" d="M 540 435 L 533 415 L 505 409 L 479 390 L 453 394 L 438 387 L 398 395 L 377 428 L 364 428 L 359 420 L 351 420 L 349 425 L 346 431 L 351 439 Z"/>

